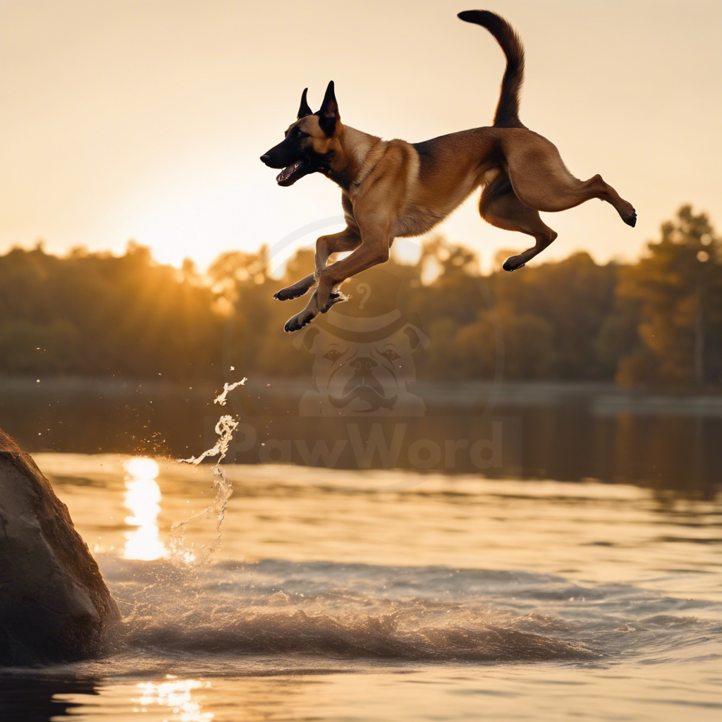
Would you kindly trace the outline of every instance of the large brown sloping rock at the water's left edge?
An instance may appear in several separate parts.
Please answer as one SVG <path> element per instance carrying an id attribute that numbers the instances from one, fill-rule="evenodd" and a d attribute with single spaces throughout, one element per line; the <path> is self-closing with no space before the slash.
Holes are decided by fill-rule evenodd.
<path id="1" fill-rule="evenodd" d="M 0 429 L 0 664 L 96 656 L 120 616 L 68 508 Z"/>

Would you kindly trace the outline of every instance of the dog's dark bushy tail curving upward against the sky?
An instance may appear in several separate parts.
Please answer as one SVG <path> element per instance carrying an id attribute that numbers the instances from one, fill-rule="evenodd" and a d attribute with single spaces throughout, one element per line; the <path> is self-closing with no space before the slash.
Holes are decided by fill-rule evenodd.
<path id="1" fill-rule="evenodd" d="M 519 92 L 524 79 L 524 48 L 513 27 L 503 17 L 489 10 L 465 10 L 458 17 L 485 27 L 501 45 L 506 56 L 506 70 L 494 115 L 494 125 L 503 128 L 526 128 L 519 120 Z"/>

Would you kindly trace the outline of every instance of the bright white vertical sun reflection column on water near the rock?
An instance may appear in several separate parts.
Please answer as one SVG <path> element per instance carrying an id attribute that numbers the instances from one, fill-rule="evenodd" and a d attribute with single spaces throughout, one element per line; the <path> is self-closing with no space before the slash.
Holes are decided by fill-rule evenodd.
<path id="1" fill-rule="evenodd" d="M 158 514 L 160 487 L 156 477 L 160 469 L 152 458 L 136 456 L 123 464 L 126 470 L 126 494 L 123 504 L 131 512 L 126 524 L 135 527 L 126 531 L 123 558 L 150 561 L 168 553 L 160 541 Z"/>

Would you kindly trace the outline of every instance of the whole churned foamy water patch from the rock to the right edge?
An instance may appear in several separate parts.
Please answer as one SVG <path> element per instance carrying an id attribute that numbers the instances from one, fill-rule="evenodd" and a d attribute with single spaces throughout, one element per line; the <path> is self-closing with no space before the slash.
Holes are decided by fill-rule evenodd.
<path id="1" fill-rule="evenodd" d="M 101 564 L 125 615 L 108 640 L 111 664 L 121 669 L 126 658 L 134 665 L 142 658 L 207 671 L 209 655 L 221 667 L 249 656 L 284 664 L 309 656 L 606 664 L 679 656 L 685 644 L 698 652 L 722 632 L 718 622 L 677 616 L 681 600 L 552 575 L 282 560 L 193 569 L 117 557 Z M 706 604 L 687 600 L 687 611 Z"/>

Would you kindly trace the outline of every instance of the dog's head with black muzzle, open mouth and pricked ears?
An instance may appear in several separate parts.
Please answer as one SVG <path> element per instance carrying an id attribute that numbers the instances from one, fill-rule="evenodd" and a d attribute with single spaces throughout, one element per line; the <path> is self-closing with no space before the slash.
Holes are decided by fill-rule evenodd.
<path id="1" fill-rule="evenodd" d="M 298 117 L 286 130 L 286 139 L 266 151 L 261 160 L 269 168 L 283 168 L 277 175 L 279 186 L 292 186 L 309 173 L 329 170 L 331 158 L 339 149 L 342 130 L 334 81 L 326 88 L 321 109 L 313 113 L 306 102 L 308 88 L 301 95 Z"/>

